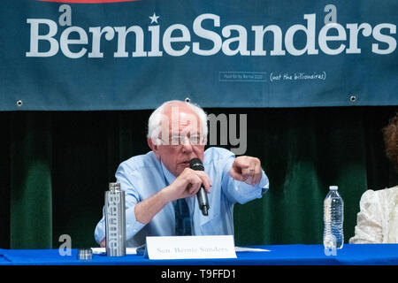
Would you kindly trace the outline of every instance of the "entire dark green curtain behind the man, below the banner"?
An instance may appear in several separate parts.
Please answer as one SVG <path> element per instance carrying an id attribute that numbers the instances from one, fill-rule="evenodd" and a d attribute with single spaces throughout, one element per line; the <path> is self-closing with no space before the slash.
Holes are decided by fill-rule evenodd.
<path id="1" fill-rule="evenodd" d="M 246 154 L 270 179 L 262 199 L 235 206 L 237 245 L 321 243 L 330 185 L 345 202 L 348 242 L 364 191 L 398 183 L 381 134 L 397 107 L 205 111 L 247 114 Z M 149 151 L 150 112 L 0 113 L 0 248 L 57 249 L 62 234 L 73 249 L 95 247 L 108 182 L 120 162 Z"/>

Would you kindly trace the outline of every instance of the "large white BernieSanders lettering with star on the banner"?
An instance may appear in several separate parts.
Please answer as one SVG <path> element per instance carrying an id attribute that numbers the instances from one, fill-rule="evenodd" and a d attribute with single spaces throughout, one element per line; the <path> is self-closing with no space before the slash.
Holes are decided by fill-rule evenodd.
<path id="1" fill-rule="evenodd" d="M 70 7 L 65 8 L 65 13 L 69 19 L 72 19 Z M 396 34 L 394 24 L 381 23 L 371 27 L 368 23 L 351 23 L 344 27 L 339 23 L 328 23 L 317 33 L 316 14 L 304 14 L 304 25 L 296 24 L 288 27 L 286 31 L 277 25 L 249 28 L 228 25 L 221 28 L 220 17 L 212 13 L 197 16 L 192 22 L 192 28 L 190 25 L 187 27 L 183 24 L 173 24 L 169 27 L 149 25 L 143 28 L 133 25 L 85 29 L 72 26 L 72 20 L 66 24 L 61 22 L 63 15 L 59 18 L 59 25 L 52 19 L 27 19 L 30 27 L 27 57 L 52 57 L 61 50 L 65 57 L 70 58 L 102 58 L 104 53 L 101 50 L 101 44 L 104 41 L 113 44 L 114 48 L 110 55 L 112 57 L 163 57 L 165 55 L 180 57 L 189 52 L 198 56 L 213 56 L 220 52 L 226 56 L 266 56 L 265 34 L 272 36 L 270 42 L 273 45 L 270 56 L 318 55 L 319 51 L 327 55 L 338 55 L 343 51 L 347 54 L 358 54 L 361 53 L 358 41 L 361 42 L 362 38 L 369 38 L 372 53 L 386 55 L 396 50 L 396 40 L 391 35 Z M 153 17 L 159 18 L 155 13 Z M 65 28 L 60 31 L 60 27 Z M 41 34 L 41 31 L 46 31 L 46 33 Z M 128 44 L 131 42 L 127 41 L 129 34 L 134 34 L 134 44 Z M 233 36 L 233 34 L 238 35 Z M 304 36 L 303 47 L 295 46 L 295 36 Z M 192 41 L 193 37 L 199 40 Z M 144 44 L 147 41 L 150 42 L 149 47 L 148 44 Z M 249 50 L 249 46 L 254 48 Z"/>

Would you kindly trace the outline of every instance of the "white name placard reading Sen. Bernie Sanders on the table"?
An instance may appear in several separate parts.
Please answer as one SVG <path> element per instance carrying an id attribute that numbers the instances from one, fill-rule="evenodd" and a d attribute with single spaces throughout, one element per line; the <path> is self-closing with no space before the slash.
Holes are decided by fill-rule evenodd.
<path id="1" fill-rule="evenodd" d="M 236 258 L 232 235 L 147 237 L 149 259 Z"/>

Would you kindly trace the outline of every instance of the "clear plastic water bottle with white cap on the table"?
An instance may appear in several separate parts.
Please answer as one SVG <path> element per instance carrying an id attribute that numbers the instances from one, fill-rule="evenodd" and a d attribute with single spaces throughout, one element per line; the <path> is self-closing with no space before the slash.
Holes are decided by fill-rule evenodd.
<path id="1" fill-rule="evenodd" d="M 325 249 L 341 249 L 344 244 L 343 222 L 344 202 L 337 191 L 330 186 L 324 202 L 324 246 Z"/>

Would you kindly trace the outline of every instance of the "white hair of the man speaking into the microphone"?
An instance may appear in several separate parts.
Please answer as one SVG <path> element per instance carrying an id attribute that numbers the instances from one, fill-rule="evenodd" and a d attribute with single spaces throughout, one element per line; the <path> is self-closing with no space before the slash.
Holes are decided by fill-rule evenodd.
<path id="1" fill-rule="evenodd" d="M 157 144 L 157 141 L 159 140 L 159 134 L 161 132 L 162 118 L 164 117 L 163 113 L 165 111 L 166 106 L 172 103 L 186 103 L 192 109 L 192 111 L 194 111 L 195 114 L 199 117 L 201 123 L 201 134 L 207 137 L 208 134 L 207 114 L 203 111 L 203 109 L 194 103 L 183 102 L 180 100 L 171 100 L 163 103 L 162 105 L 157 107 L 157 109 L 153 111 L 152 114 L 150 114 L 148 120 L 147 138 L 151 139 L 152 142 Z"/>

